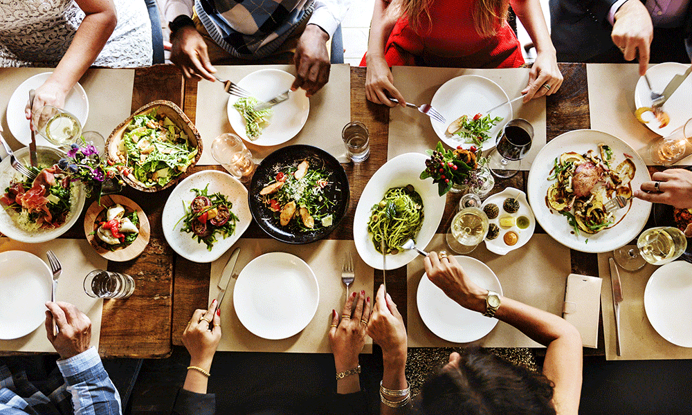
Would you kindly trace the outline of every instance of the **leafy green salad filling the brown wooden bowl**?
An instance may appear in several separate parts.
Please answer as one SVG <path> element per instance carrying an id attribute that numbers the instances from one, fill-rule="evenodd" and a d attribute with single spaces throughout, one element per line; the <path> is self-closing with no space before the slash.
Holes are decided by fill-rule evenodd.
<path id="1" fill-rule="evenodd" d="M 165 186 L 190 167 L 197 156 L 187 134 L 156 109 L 134 116 L 122 142 L 127 151 L 127 167 L 147 187 Z"/>

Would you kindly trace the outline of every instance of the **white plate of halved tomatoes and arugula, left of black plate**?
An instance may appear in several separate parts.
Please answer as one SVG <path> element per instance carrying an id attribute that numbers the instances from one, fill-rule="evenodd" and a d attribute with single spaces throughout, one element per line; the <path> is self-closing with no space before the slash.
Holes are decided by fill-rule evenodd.
<path id="1" fill-rule="evenodd" d="M 224 255 L 247 230 L 248 191 L 226 172 L 205 170 L 175 187 L 163 208 L 163 236 L 181 257 L 206 263 Z"/>

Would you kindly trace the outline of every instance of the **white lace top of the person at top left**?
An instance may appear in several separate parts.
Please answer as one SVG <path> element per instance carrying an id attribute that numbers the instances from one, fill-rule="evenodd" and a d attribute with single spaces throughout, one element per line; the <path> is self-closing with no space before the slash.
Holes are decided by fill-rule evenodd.
<path id="1" fill-rule="evenodd" d="M 94 65 L 152 64 L 152 26 L 144 0 L 114 0 L 118 26 Z M 0 0 L 0 66 L 56 66 L 84 12 L 73 0 Z"/>

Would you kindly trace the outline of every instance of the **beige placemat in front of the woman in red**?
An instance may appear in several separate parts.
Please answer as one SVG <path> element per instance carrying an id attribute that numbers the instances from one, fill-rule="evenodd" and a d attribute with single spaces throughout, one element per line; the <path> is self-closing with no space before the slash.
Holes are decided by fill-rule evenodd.
<path id="1" fill-rule="evenodd" d="M 459 69 L 459 68 L 421 68 L 417 66 L 394 66 L 394 86 L 410 102 L 417 105 L 430 103 L 432 96 L 442 84 L 461 75 L 480 75 L 496 82 L 509 99 L 518 97 L 529 82 L 529 69 Z M 534 126 L 534 141 L 529 154 L 522 159 L 521 169 L 531 168 L 538 151 L 545 145 L 545 98 L 531 100 L 527 104 L 512 104 L 514 118 L 524 118 Z M 486 109 L 479 108 L 482 112 Z M 451 122 L 452 120 L 448 120 Z M 508 122 L 509 120 L 502 120 Z M 502 123 L 501 122 L 501 123 Z M 415 109 L 394 107 L 390 109 L 389 145 L 387 159 L 399 154 L 424 153 L 433 149 L 439 137 L 432 129 L 428 117 Z"/>

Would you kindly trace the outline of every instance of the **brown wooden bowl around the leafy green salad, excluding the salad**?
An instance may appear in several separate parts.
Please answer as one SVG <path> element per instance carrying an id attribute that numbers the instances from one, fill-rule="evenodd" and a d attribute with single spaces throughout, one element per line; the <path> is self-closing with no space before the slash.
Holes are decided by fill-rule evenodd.
<path id="1" fill-rule="evenodd" d="M 197 147 L 197 155 L 194 157 L 194 160 L 192 160 L 190 166 L 188 166 L 189 171 L 190 167 L 197 164 L 197 162 L 199 161 L 199 157 L 202 155 L 202 138 L 199 135 L 199 131 L 197 131 L 197 127 L 194 127 L 194 124 L 192 123 L 192 121 L 190 121 L 190 118 L 188 118 L 188 116 L 186 116 L 185 113 L 183 113 L 180 107 L 178 107 L 173 102 L 165 100 L 156 100 L 153 102 L 149 102 L 149 104 L 146 104 L 144 107 L 141 107 L 140 109 L 135 111 L 125 121 L 121 122 L 120 125 L 116 127 L 116 129 L 113 130 L 111 135 L 108 137 L 108 140 L 106 140 L 106 154 L 108 158 L 116 162 L 118 161 L 118 153 L 125 151 L 125 147 L 122 145 L 122 138 L 125 134 L 125 129 L 129 125 L 129 123 L 134 119 L 135 116 L 150 113 L 154 109 L 156 109 L 157 114 L 163 114 L 167 116 L 174 124 L 176 124 L 177 127 L 179 127 L 188 136 L 188 138 L 190 139 L 190 143 L 194 147 Z M 161 190 L 164 190 L 167 187 L 171 187 L 172 185 L 179 183 L 179 181 L 183 180 L 183 178 L 185 178 L 186 176 L 188 176 L 188 172 L 183 172 L 183 174 L 172 179 L 163 186 L 160 186 L 158 184 L 147 186 L 144 183 L 138 181 L 132 174 L 123 175 L 122 179 L 130 187 L 133 187 L 136 190 L 140 190 L 142 192 L 160 192 Z"/>

